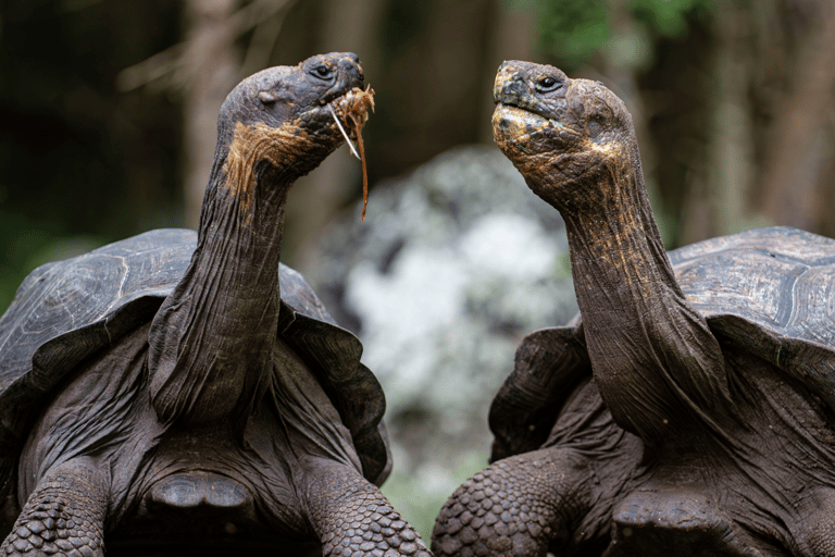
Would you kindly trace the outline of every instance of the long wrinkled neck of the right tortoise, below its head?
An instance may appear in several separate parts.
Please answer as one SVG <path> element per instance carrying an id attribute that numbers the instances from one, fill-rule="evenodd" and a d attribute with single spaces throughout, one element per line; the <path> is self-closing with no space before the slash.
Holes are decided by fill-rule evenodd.
<path id="1" fill-rule="evenodd" d="M 594 375 L 612 416 L 650 445 L 670 445 L 694 425 L 714 429 L 730 396 L 719 343 L 675 282 L 631 151 L 534 190 L 568 188 L 548 197 L 565 221 Z"/>

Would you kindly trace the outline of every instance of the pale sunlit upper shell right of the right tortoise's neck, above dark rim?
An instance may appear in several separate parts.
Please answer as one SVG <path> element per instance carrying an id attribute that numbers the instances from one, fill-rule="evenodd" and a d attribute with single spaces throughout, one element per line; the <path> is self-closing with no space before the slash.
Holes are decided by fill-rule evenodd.
<path id="1" fill-rule="evenodd" d="M 731 315 L 835 348 L 835 240 L 785 226 L 757 228 L 674 250 L 670 260 L 709 323 Z"/>

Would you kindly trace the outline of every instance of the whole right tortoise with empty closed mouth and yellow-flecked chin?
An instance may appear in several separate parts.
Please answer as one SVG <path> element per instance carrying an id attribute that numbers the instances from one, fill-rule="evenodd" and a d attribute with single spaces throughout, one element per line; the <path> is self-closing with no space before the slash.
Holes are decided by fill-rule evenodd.
<path id="1" fill-rule="evenodd" d="M 620 99 L 527 62 L 494 91 L 497 143 L 565 221 L 582 320 L 521 344 L 494 463 L 433 549 L 835 555 L 835 242 L 762 228 L 668 258 Z"/>

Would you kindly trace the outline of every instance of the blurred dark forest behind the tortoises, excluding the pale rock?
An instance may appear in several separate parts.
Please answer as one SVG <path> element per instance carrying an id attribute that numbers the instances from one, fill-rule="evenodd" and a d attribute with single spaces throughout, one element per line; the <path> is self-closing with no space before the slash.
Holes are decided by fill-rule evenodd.
<path id="1" fill-rule="evenodd" d="M 494 75 L 523 59 L 625 100 L 668 247 L 835 236 L 833 0 L 0 0 L 0 311 L 38 264 L 195 227 L 226 94 L 334 50 L 376 90 L 371 220 L 374 184 L 493 143 Z M 315 275 L 360 166 L 341 148 L 303 181 L 283 260 Z"/>

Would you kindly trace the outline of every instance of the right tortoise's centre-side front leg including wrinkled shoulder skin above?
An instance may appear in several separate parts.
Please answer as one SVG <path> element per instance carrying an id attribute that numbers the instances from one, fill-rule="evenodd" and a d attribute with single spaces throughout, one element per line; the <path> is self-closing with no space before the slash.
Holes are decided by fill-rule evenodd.
<path id="1" fill-rule="evenodd" d="M 544 447 L 503 458 L 464 482 L 435 522 L 439 556 L 599 553 L 612 505 L 634 485 L 639 441 L 621 430 L 586 380 Z"/>

